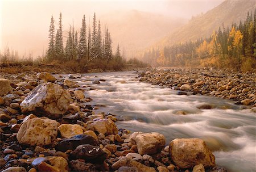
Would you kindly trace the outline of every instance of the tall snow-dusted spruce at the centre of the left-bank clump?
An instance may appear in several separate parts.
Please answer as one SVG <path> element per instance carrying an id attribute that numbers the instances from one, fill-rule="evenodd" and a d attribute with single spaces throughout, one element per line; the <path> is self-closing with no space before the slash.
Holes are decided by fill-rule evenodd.
<path id="1" fill-rule="evenodd" d="M 80 30 L 79 45 L 77 48 L 77 57 L 79 59 L 85 58 L 87 55 L 87 43 L 86 43 L 86 23 L 85 15 L 82 18 L 82 27 Z"/>

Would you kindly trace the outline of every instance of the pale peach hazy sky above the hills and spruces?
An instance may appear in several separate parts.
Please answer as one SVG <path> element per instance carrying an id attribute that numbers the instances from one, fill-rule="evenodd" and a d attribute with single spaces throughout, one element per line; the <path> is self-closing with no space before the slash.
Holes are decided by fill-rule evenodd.
<path id="1" fill-rule="evenodd" d="M 191 18 L 206 12 L 224 0 L 0 0 L 0 47 L 8 46 L 20 54 L 41 55 L 47 49 L 48 28 L 51 15 L 56 20 L 63 14 L 64 30 L 74 19 L 80 28 L 82 15 L 96 12 L 108 16 L 110 11 L 140 10 L 161 13 L 168 16 Z M 115 16 L 110 16 L 115 17 Z M 110 31 L 111 32 L 111 31 Z"/>

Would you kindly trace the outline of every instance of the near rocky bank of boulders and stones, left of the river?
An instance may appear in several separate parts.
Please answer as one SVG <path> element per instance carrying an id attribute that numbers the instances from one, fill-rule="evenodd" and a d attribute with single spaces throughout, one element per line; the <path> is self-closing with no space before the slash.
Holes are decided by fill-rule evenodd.
<path id="1" fill-rule="evenodd" d="M 226 171 L 201 139 L 117 128 L 117 116 L 88 104 L 80 77 L 2 76 L 1 171 Z"/>

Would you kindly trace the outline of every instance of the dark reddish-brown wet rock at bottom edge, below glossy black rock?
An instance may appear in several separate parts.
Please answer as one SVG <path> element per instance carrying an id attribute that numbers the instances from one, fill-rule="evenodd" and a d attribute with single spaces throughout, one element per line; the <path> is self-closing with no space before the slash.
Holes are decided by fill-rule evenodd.
<path id="1" fill-rule="evenodd" d="M 95 166 L 92 163 L 85 163 L 79 160 L 70 161 L 70 165 L 72 171 L 79 171 L 79 172 L 95 172 Z"/>

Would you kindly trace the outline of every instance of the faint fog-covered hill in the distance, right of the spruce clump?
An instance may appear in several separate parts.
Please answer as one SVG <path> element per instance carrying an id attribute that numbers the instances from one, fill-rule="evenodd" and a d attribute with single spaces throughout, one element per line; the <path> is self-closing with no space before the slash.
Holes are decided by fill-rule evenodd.
<path id="1" fill-rule="evenodd" d="M 124 48 L 128 57 L 159 41 L 186 22 L 185 19 L 138 10 L 113 11 L 100 18 L 102 29 L 104 23 L 108 23 L 114 48 L 117 43 L 121 44 L 121 50 Z"/>

